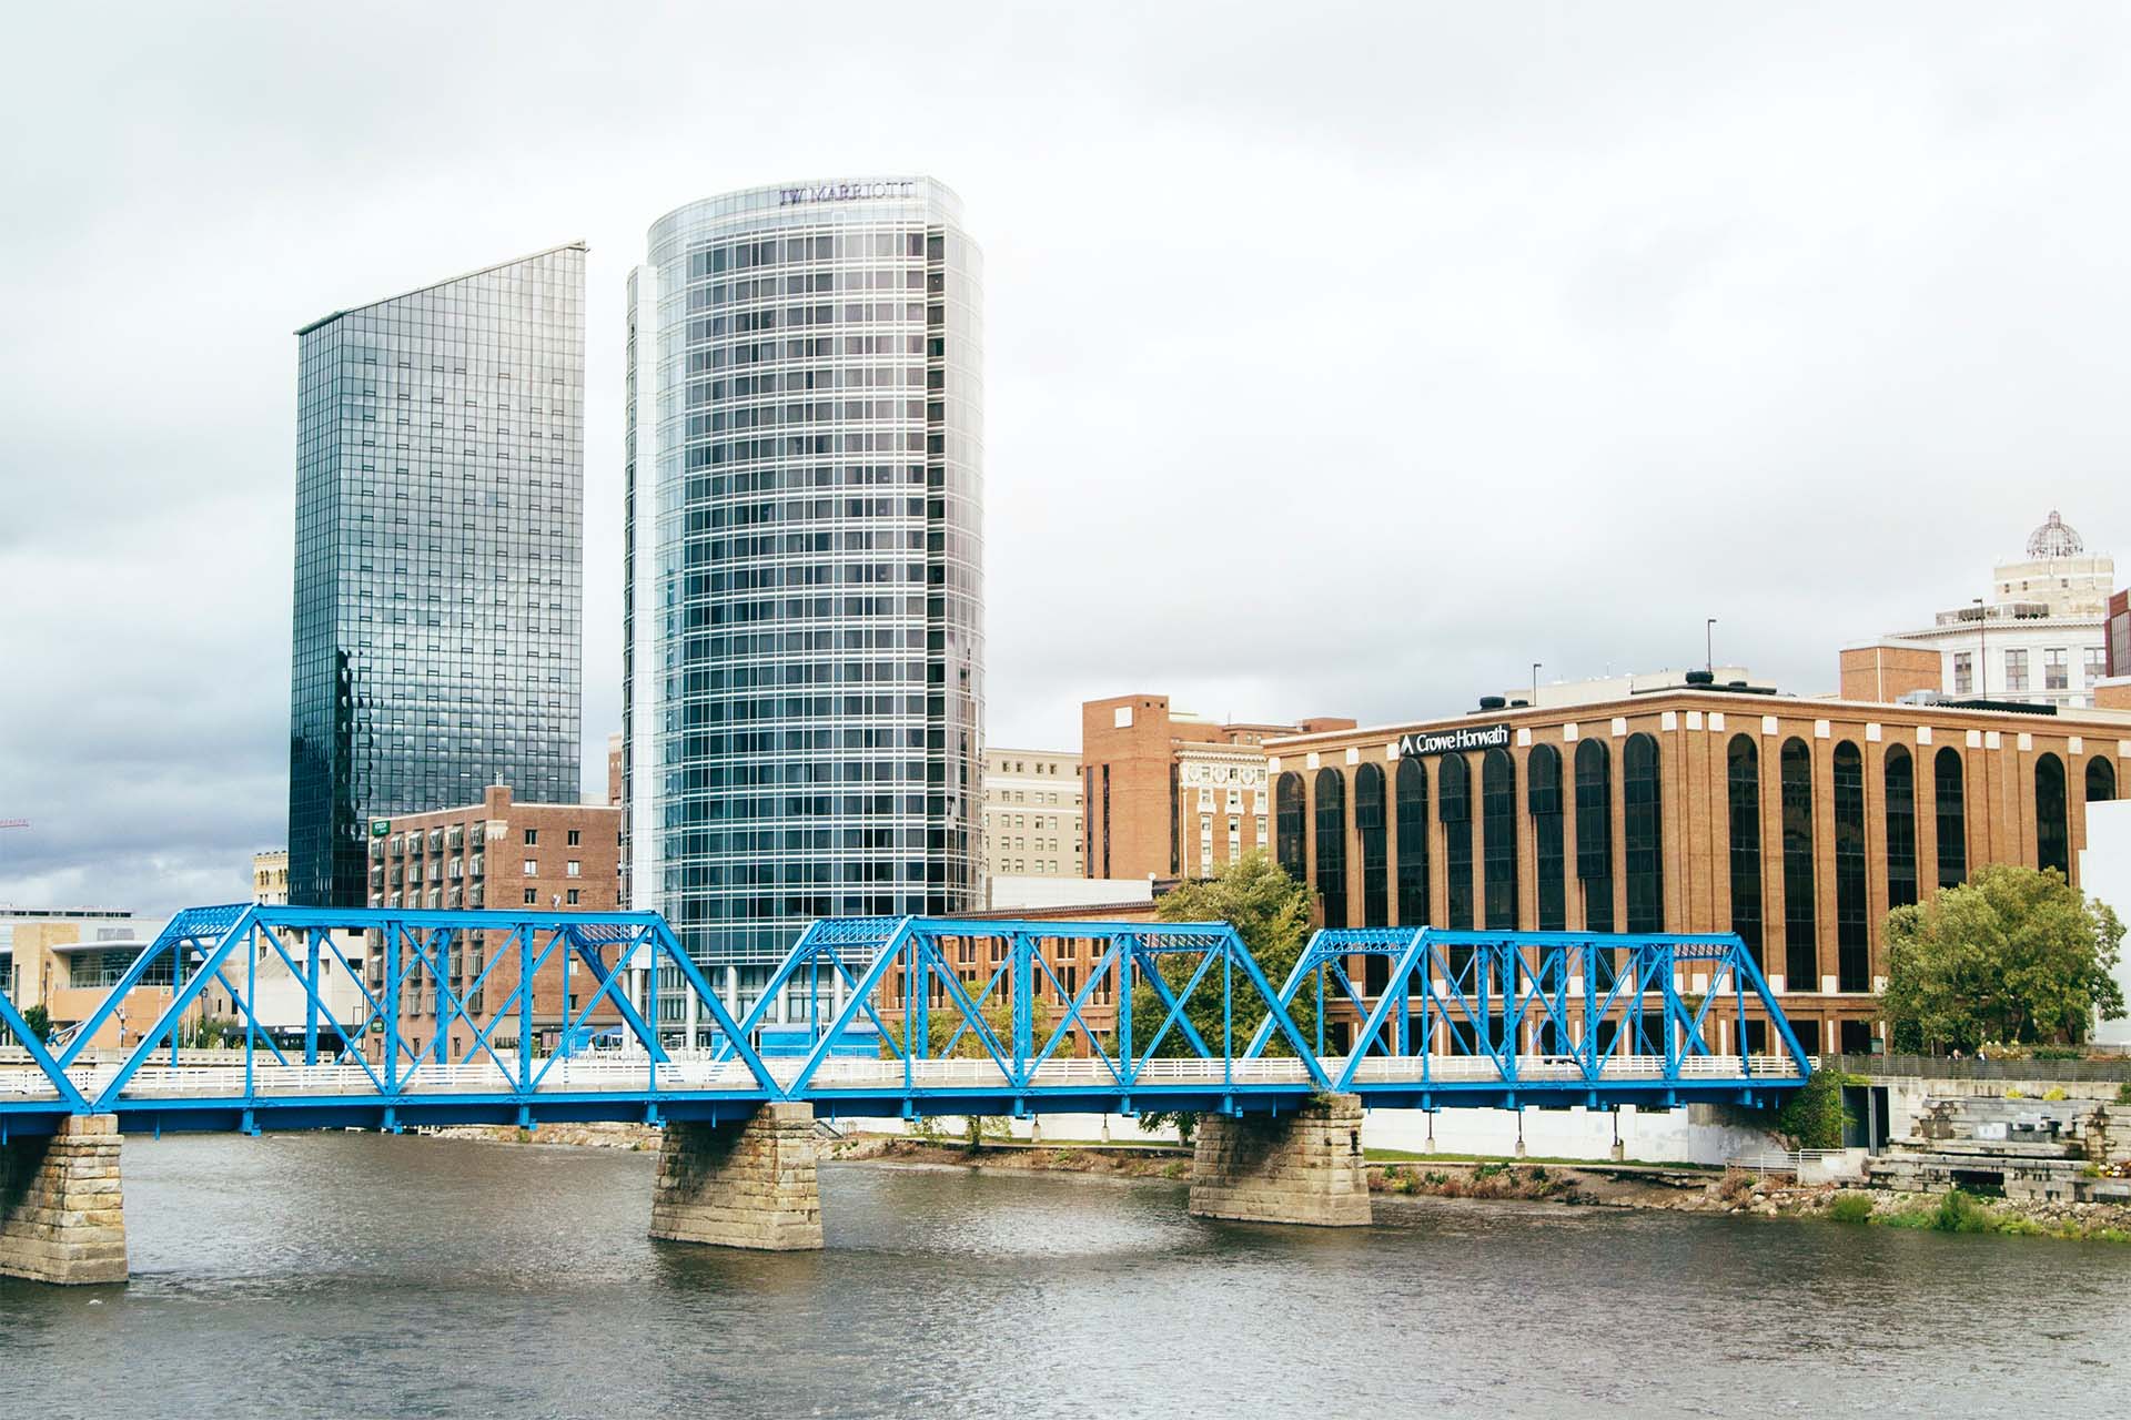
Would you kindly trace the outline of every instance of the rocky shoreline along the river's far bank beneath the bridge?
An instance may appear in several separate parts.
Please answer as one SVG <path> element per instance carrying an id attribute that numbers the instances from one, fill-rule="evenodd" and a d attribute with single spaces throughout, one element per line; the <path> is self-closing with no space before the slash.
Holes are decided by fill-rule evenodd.
<path id="1" fill-rule="evenodd" d="M 509 1126 L 430 1130 L 439 1139 L 543 1143 L 646 1152 L 658 1147 L 648 1124 L 548 1124 L 539 1133 Z M 1191 1150 L 1174 1145 L 961 1141 L 908 1135 L 846 1135 L 823 1141 L 823 1162 L 991 1173 L 1070 1173 L 1100 1179 L 1185 1182 Z M 1394 1199 L 1481 1199 L 1560 1203 L 1564 1207 L 1632 1207 L 1673 1213 L 1754 1218 L 1822 1218 L 1845 1224 L 2005 1233 L 2131 1243 L 2131 1207 L 2120 1203 L 2005 1203 L 1969 1194 L 1890 1192 L 1813 1186 L 1758 1177 L 1741 1169 L 1664 1165 L 1524 1162 L 1524 1160 L 1387 1160 L 1368 1165 L 1372 1194 Z M 1948 1203 L 1948 1199 L 1954 1199 Z"/>

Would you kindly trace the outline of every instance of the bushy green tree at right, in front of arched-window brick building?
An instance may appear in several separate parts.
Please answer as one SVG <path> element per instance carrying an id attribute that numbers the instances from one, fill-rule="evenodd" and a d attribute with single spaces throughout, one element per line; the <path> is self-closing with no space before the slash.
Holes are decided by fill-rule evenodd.
<path id="1" fill-rule="evenodd" d="M 2056 869 L 2007 862 L 1886 918 L 1882 1013 L 1924 1050 L 2078 1045 L 2125 1013 L 2114 969 L 2125 928 Z"/>

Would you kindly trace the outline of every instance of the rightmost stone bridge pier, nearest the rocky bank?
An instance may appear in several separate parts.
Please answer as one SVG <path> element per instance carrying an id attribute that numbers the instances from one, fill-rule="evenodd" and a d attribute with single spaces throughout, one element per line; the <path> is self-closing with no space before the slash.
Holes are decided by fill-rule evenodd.
<path id="1" fill-rule="evenodd" d="M 1319 1094 L 1289 1116 L 1206 1116 L 1191 1152 L 1191 1213 L 1366 1226 L 1362 1099 Z"/>

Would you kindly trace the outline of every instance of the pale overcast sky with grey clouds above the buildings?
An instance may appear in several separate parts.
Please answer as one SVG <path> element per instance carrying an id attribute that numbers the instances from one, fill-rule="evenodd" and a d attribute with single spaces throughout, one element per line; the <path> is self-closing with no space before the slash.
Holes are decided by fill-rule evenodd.
<path id="1" fill-rule="evenodd" d="M 0 901 L 286 837 L 292 330 L 590 243 L 586 790 L 622 279 L 759 183 L 987 251 L 991 741 L 1389 722 L 1718 658 L 1824 692 L 2052 509 L 2127 528 L 2114 4 L 17 6 Z"/>

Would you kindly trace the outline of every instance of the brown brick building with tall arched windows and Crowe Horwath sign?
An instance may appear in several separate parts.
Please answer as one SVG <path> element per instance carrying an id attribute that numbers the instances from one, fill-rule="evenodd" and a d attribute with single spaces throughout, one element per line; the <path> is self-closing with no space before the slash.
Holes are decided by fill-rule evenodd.
<path id="1" fill-rule="evenodd" d="M 2131 713 L 1683 683 L 1266 752 L 1276 856 L 1325 924 L 1735 930 L 1807 1047 L 1869 1050 L 1888 909 L 1986 862 L 2078 881 Z"/>

